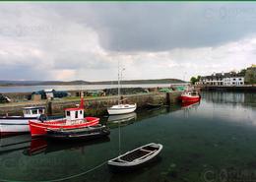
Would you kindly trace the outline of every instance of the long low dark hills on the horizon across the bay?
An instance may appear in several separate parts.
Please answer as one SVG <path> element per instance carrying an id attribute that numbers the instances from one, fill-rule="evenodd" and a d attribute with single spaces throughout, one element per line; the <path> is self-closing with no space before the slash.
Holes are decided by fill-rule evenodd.
<path id="1" fill-rule="evenodd" d="M 131 80 L 122 81 L 123 85 L 132 84 L 178 84 L 184 81 L 178 79 Z M 0 81 L 0 86 L 69 86 L 69 85 L 117 85 L 117 81 L 87 82 L 87 81 Z"/>

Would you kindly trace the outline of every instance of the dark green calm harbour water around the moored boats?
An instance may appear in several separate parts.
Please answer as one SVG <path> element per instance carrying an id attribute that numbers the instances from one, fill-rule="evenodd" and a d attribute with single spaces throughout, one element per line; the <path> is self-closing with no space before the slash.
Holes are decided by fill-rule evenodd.
<path id="1" fill-rule="evenodd" d="M 103 117 L 111 134 L 91 143 L 30 142 L 30 136 L 1 139 L 0 179 L 256 181 L 256 93 L 203 92 L 199 104 L 176 104 L 129 117 L 122 124 Z M 152 142 L 163 145 L 160 160 L 129 173 L 108 170 L 108 159 Z"/>

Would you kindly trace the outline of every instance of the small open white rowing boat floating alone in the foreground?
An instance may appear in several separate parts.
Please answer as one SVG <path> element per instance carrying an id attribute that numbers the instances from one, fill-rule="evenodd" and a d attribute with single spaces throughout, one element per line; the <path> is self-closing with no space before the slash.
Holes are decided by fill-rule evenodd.
<path id="1" fill-rule="evenodd" d="M 161 150 L 162 145 L 151 143 L 110 159 L 107 164 L 113 169 L 134 169 L 154 159 Z"/>

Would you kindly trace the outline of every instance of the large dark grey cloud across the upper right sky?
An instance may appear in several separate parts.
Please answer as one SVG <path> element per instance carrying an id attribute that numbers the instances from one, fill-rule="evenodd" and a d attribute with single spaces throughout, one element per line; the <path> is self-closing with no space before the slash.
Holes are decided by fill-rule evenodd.
<path id="1" fill-rule="evenodd" d="M 105 49 L 162 51 L 216 46 L 256 31 L 251 3 L 102 3 L 57 12 L 92 26 Z M 68 11 L 67 10 L 75 10 Z"/>

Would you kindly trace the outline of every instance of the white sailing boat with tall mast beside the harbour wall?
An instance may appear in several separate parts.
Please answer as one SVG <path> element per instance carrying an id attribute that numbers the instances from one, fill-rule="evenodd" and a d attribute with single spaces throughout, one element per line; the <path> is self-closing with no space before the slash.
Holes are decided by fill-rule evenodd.
<path id="1" fill-rule="evenodd" d="M 109 115 L 115 115 L 115 114 L 127 114 L 127 113 L 130 113 L 130 112 L 133 112 L 136 110 L 137 108 L 137 104 L 134 103 L 134 104 L 123 104 L 121 103 L 121 101 L 123 100 L 120 100 L 120 84 L 121 84 L 121 79 L 122 79 L 122 71 L 121 71 L 121 74 L 119 73 L 120 72 L 120 68 L 119 68 L 119 61 L 118 61 L 118 104 L 117 105 L 112 105 L 111 107 L 108 107 L 107 108 L 107 112 Z M 120 78 L 120 75 L 121 75 L 121 78 Z"/>

